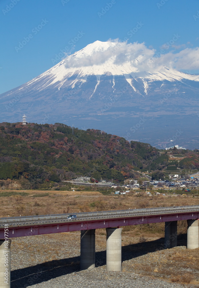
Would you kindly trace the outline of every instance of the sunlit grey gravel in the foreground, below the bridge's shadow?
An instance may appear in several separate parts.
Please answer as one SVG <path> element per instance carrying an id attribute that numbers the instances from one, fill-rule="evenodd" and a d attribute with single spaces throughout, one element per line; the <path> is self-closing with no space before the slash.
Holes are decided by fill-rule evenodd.
<path id="1" fill-rule="evenodd" d="M 98 288 L 182 288 L 184 286 L 174 283 L 167 283 L 158 279 L 150 279 L 146 276 L 139 276 L 134 273 L 107 272 L 105 267 L 98 267 L 94 270 L 73 272 L 68 275 L 28 286 L 31 288 L 66 288 L 66 287 L 98 287 Z"/>

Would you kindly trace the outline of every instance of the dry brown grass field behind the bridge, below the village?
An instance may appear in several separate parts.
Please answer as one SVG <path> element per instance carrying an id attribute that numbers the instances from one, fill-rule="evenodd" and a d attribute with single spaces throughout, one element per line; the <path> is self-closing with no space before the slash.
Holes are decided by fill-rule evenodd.
<path id="1" fill-rule="evenodd" d="M 0 196 L 5 192 L 9 195 L 13 190 L 0 190 Z M 25 192 L 27 196 L 1 197 L 0 217 L 199 204 L 199 197 L 193 196 L 148 196 L 144 193 L 142 195 L 132 193 L 103 195 L 96 191 L 17 190 L 16 192 Z"/>

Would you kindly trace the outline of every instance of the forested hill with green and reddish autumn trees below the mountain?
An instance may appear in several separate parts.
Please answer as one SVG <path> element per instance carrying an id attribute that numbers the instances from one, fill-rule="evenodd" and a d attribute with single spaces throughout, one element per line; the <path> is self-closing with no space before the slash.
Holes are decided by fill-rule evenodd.
<path id="1" fill-rule="evenodd" d="M 168 156 L 146 143 L 64 124 L 0 124 L 0 179 L 30 188 L 76 175 L 121 182 L 135 170 L 161 170 Z"/>

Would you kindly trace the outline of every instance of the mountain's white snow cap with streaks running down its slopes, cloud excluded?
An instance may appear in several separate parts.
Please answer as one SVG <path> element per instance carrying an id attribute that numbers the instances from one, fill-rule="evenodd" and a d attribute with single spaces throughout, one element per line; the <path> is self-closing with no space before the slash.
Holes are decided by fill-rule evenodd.
<path id="1" fill-rule="evenodd" d="M 94 94 L 98 94 L 97 86 L 100 86 L 100 84 L 103 85 L 105 77 L 109 77 L 113 90 L 110 91 L 111 93 L 115 92 L 115 78 L 117 79 L 117 76 L 120 76 L 123 80 L 125 78 L 129 84 L 126 83 L 126 85 L 130 86 L 130 89 L 132 88 L 132 92 L 137 92 L 142 96 L 148 94 L 148 88 L 152 82 L 183 82 L 184 79 L 199 81 L 198 75 L 182 73 L 167 67 L 162 67 L 161 71 L 157 72 L 138 71 L 136 65 L 134 66 L 132 61 L 128 61 L 128 57 L 127 59 L 123 59 L 123 61 L 117 61 L 117 45 L 118 43 L 110 41 L 95 41 L 16 89 L 20 91 L 26 87 L 28 91 L 36 90 L 37 93 L 40 93 L 47 88 L 56 88 L 58 91 L 62 90 L 62 92 L 67 93 L 67 91 L 72 92 L 74 88 L 80 88 L 82 84 L 88 82 L 91 76 L 95 76 L 93 79 L 93 84 L 95 85 L 92 88 L 90 87 L 91 91 L 88 93 L 88 98 L 90 99 Z M 140 55 L 137 59 L 134 59 L 134 62 L 142 60 L 139 58 L 141 58 Z M 5 93 L 3 98 L 11 94 L 13 92 Z"/>

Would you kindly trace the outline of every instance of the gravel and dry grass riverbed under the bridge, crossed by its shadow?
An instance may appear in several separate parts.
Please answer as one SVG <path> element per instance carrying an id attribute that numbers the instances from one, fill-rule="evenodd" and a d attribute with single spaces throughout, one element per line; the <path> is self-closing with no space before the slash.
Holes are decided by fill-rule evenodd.
<path id="1" fill-rule="evenodd" d="M 198 249 L 195 249 L 197 251 L 194 255 L 184 246 L 156 251 L 151 248 L 156 243 L 155 240 L 146 244 L 126 245 L 128 242 L 125 242 L 124 236 L 122 272 L 107 272 L 105 237 L 96 235 L 96 268 L 83 271 L 79 270 L 80 232 L 13 238 L 11 288 L 199 287 L 171 282 L 174 270 L 179 275 L 192 273 L 196 279 L 199 278 Z M 156 245 L 160 246 L 157 243 Z M 139 247 L 143 249 L 138 249 Z M 149 248 L 150 253 L 147 252 Z M 145 252 L 144 249 L 148 250 Z M 182 261 L 181 255 L 190 259 L 190 263 Z"/>

